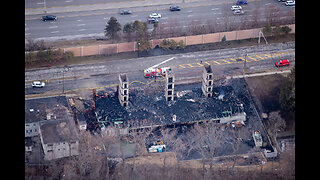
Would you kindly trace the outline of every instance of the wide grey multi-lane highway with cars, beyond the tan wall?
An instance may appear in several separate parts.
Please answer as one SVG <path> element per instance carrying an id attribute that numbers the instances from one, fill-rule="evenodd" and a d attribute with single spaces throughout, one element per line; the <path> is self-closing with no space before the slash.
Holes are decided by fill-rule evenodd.
<path id="1" fill-rule="evenodd" d="M 45 2 L 45 7 L 44 7 Z M 166 3 L 168 2 L 168 3 Z M 281 17 L 290 15 L 294 7 L 285 6 L 276 0 L 248 0 L 248 5 L 243 6 L 245 14 L 236 16 L 230 10 L 235 1 L 163 1 L 156 4 L 151 0 L 26 0 L 25 3 L 25 37 L 44 41 L 72 40 L 91 37 L 103 37 L 104 28 L 111 16 L 118 19 L 123 26 L 125 23 L 140 20 L 145 22 L 152 12 L 162 14 L 159 19 L 164 28 L 183 27 L 190 24 L 207 25 L 210 22 L 224 23 L 225 17 L 230 22 L 253 21 L 254 17 L 265 19 L 265 9 L 268 5 L 279 7 Z M 90 3 L 90 4 L 89 4 Z M 179 5 L 182 10 L 170 12 L 169 6 Z M 131 15 L 120 15 L 121 9 L 130 9 Z M 53 14 L 57 21 L 41 21 L 45 14 Z M 51 13 L 53 12 L 53 13 Z M 259 15 L 257 15 L 257 13 Z M 149 28 L 152 28 L 150 25 Z"/>

